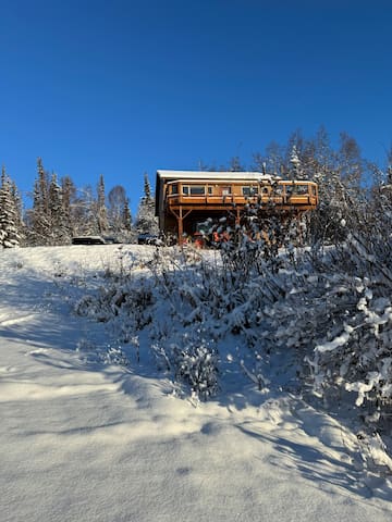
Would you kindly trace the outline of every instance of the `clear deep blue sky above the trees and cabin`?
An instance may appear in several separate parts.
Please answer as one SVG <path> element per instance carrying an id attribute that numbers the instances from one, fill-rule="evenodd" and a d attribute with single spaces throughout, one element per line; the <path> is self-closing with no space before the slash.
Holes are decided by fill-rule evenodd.
<path id="1" fill-rule="evenodd" d="M 0 163 L 77 186 L 197 170 L 323 125 L 383 162 L 390 0 L 0 0 Z"/>

